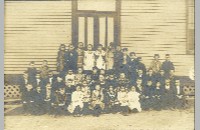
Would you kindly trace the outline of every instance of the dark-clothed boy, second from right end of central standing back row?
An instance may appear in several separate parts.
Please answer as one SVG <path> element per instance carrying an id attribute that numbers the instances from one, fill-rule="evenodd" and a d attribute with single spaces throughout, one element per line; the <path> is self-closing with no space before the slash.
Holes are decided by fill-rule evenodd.
<path id="1" fill-rule="evenodd" d="M 136 57 L 135 52 L 131 52 L 130 54 L 130 61 L 128 63 L 129 65 L 129 75 L 130 75 L 130 80 L 131 80 L 131 85 L 134 85 L 136 82 L 136 77 L 137 77 L 137 65 L 138 65 L 138 60 Z"/>

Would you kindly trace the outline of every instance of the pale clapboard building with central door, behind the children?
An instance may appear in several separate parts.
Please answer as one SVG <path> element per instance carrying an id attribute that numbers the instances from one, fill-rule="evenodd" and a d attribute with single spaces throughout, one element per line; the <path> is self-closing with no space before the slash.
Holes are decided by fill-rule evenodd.
<path id="1" fill-rule="evenodd" d="M 194 66 L 194 0 L 6 0 L 5 75 L 35 61 L 56 70 L 60 44 L 110 42 L 128 47 L 148 67 L 171 54 L 176 75 Z"/>

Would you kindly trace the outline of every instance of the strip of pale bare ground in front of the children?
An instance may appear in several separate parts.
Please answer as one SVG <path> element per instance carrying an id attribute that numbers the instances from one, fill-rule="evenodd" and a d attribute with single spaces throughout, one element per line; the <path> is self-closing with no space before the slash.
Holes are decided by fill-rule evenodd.
<path id="1" fill-rule="evenodd" d="M 5 130 L 194 130 L 194 109 L 143 111 L 100 117 L 6 115 Z"/>

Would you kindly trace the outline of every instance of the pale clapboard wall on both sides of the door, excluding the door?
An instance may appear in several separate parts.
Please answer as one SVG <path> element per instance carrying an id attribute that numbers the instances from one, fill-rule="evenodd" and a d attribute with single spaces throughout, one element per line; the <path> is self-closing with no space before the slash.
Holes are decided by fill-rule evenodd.
<path id="1" fill-rule="evenodd" d="M 121 45 L 142 56 L 147 67 L 155 53 L 162 60 L 169 53 L 176 74 L 187 76 L 194 55 L 186 53 L 185 2 L 122 0 Z M 44 59 L 56 70 L 59 45 L 70 42 L 71 1 L 5 1 L 5 74 L 22 74 L 30 61 L 39 67 Z"/>

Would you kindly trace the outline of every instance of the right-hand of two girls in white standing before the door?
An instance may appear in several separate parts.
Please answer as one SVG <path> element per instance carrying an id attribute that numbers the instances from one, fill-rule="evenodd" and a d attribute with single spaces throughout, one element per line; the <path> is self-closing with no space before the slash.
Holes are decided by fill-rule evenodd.
<path id="1" fill-rule="evenodd" d="M 94 54 L 95 54 L 95 66 L 98 69 L 105 70 L 105 68 L 106 68 L 106 64 L 105 64 L 106 52 L 103 50 L 103 46 L 101 44 L 98 45 L 98 48 Z"/>

